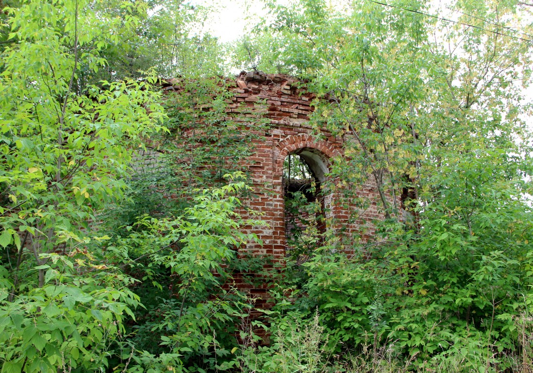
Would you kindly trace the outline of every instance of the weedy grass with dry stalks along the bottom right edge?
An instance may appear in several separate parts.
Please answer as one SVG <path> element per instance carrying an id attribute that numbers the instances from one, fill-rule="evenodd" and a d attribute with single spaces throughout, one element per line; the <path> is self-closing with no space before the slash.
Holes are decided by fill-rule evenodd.
<path id="1" fill-rule="evenodd" d="M 533 373 L 533 318 L 514 319 L 518 332 L 514 351 L 491 353 L 475 336 L 447 351 L 421 361 L 406 358 L 395 341 L 382 346 L 364 344 L 359 353 L 329 354 L 327 336 L 318 314 L 305 326 L 298 320 L 280 329 L 270 347 L 248 346 L 240 370 L 246 373 Z M 487 353 L 489 351 L 489 353 Z M 253 364 L 251 363 L 253 362 Z"/>

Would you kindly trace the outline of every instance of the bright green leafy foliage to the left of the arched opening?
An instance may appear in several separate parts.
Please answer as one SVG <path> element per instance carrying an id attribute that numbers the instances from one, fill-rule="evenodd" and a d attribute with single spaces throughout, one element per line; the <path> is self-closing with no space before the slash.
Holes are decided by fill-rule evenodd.
<path id="1" fill-rule="evenodd" d="M 207 351 L 218 339 L 233 341 L 230 349 L 236 344 L 231 328 L 249 302 L 222 285 L 228 268 L 248 265 L 233 260 L 233 249 L 254 239 L 238 233 L 255 224 L 235 215 L 243 182 L 201 192 L 186 209 L 160 204 L 154 215 L 153 205 L 134 205 L 153 194 L 128 181 L 134 150 L 167 129 L 161 97 L 150 86 L 154 74 L 132 80 L 137 73 L 117 71 L 122 60 L 114 53 L 139 52 L 123 38 L 138 36 L 146 6 L 59 1 L 5 10 L 11 33 L 0 78 L 2 371 L 179 369 L 184 362 L 211 365 L 195 358 L 211 359 Z M 116 81 L 87 84 L 106 74 Z M 129 216 L 125 198 L 135 210 Z M 96 224 L 104 211 L 111 212 L 110 230 Z M 173 286 L 164 291 L 160 283 L 168 279 Z M 157 299 L 156 291 L 163 301 L 142 298 Z M 135 315 L 141 300 L 151 312 Z M 154 312 L 158 304 L 168 313 Z M 135 316 L 144 319 L 134 337 Z M 191 324 L 197 319 L 203 324 Z M 164 353 L 161 341 L 173 347 Z"/>

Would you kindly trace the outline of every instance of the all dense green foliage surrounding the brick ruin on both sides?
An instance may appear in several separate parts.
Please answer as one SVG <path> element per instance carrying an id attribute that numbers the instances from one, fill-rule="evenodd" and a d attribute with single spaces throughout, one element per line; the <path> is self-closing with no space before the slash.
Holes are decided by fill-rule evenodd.
<path id="1" fill-rule="evenodd" d="M 531 371 L 530 6 L 265 3 L 235 65 L 301 78 L 317 133 L 348 141 L 312 197 L 286 195 L 315 225 L 262 273 L 261 321 L 232 275 L 271 267 L 237 255 L 267 124 L 228 120 L 223 47 L 192 32 L 207 10 L 0 3 L 1 371 Z M 317 228 L 320 190 L 364 210 L 369 181 L 370 241 Z"/>

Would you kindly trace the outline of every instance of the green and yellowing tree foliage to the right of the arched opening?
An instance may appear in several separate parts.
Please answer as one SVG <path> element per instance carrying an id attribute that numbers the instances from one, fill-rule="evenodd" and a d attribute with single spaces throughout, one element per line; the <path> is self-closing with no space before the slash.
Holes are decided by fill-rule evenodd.
<path id="1" fill-rule="evenodd" d="M 520 6 L 480 5 L 455 4 L 463 15 L 454 24 L 424 16 L 434 9 L 417 3 L 342 13 L 320 1 L 269 3 L 274 22 L 257 40 L 274 35 L 283 47 L 256 48 L 257 68 L 296 74 L 329 98 L 316 102 L 313 123 L 352 142 L 329 187 L 349 199 L 343 185 L 371 180 L 388 217 L 376 222 L 375 242 L 330 237 L 294 277 L 301 297 L 280 303 L 289 318 L 318 310 L 333 353 L 393 343 L 434 367 L 465 346 L 484 356 L 477 371 L 505 366 L 519 349 L 516 320 L 532 300 L 533 143 L 531 107 L 514 82 L 529 82 L 531 47 L 498 25 L 526 35 L 531 25 Z M 338 253 L 340 243 L 355 255 Z"/>

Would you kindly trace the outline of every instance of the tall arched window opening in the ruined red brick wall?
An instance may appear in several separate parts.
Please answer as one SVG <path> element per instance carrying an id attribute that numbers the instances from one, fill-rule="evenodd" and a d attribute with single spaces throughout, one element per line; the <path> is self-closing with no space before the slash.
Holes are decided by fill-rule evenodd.
<path id="1" fill-rule="evenodd" d="M 328 172 L 324 156 L 314 149 L 289 154 L 283 164 L 287 256 L 300 264 L 322 243 L 326 231 L 321 185 Z"/>

